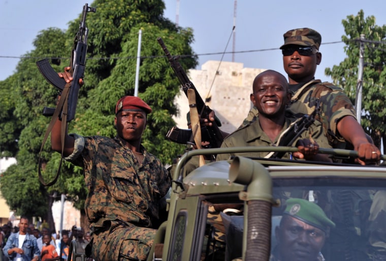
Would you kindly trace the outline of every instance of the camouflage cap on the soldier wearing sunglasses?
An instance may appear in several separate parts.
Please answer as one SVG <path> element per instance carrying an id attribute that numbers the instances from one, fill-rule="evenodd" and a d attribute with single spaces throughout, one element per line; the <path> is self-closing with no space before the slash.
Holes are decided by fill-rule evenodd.
<path id="1" fill-rule="evenodd" d="M 284 46 L 289 44 L 315 46 L 316 49 L 319 49 L 321 43 L 321 35 L 311 28 L 289 30 L 283 35 L 283 37 L 284 44 L 280 46 L 280 49 L 283 49 Z"/>

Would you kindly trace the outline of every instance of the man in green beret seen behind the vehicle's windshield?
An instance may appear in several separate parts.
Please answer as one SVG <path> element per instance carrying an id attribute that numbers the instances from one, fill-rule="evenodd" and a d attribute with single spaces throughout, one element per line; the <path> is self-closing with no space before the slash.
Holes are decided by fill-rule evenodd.
<path id="1" fill-rule="evenodd" d="M 287 199 L 280 225 L 275 230 L 277 245 L 270 261 L 324 261 L 320 250 L 327 230 L 334 227 L 335 223 L 313 202 Z"/>

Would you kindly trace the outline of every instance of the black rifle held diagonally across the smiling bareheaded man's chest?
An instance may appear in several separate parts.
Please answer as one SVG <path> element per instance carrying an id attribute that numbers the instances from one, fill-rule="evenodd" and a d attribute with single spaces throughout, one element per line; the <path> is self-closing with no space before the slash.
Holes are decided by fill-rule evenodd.
<path id="1" fill-rule="evenodd" d="M 304 114 L 302 118 L 300 118 L 296 122 L 294 122 L 287 129 L 287 131 L 285 131 L 282 134 L 277 146 L 286 146 L 286 147 L 292 146 L 292 144 L 295 142 L 295 140 L 312 125 L 312 123 L 315 121 L 316 114 L 319 113 L 319 110 L 320 110 L 320 101 L 317 100 L 314 111 L 309 115 Z M 285 154 L 285 152 L 275 152 L 269 158 L 280 159 L 284 156 L 284 154 Z"/>

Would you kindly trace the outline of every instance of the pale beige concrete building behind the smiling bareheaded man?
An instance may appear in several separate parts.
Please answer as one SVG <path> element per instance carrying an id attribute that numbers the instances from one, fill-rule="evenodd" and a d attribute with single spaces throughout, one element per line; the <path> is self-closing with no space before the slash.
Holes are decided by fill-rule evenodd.
<path id="1" fill-rule="evenodd" d="M 207 105 L 220 119 L 220 129 L 230 133 L 241 125 L 252 106 L 249 95 L 252 93 L 254 77 L 266 69 L 244 68 L 242 63 L 233 62 L 221 62 L 218 67 L 219 63 L 208 61 L 202 65 L 201 70 L 192 69 L 186 73 L 202 99 L 205 101 L 210 98 Z M 177 127 L 187 129 L 186 113 L 189 104 L 182 89 L 175 103 L 180 112 L 174 118 Z"/>

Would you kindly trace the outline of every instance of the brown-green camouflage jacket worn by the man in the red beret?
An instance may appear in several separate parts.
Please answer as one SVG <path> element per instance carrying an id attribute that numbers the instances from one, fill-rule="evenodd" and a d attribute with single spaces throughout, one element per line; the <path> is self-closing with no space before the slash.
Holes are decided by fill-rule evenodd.
<path id="1" fill-rule="evenodd" d="M 88 194 L 86 215 L 91 227 L 120 220 L 152 227 L 159 218 L 158 205 L 171 186 L 163 164 L 143 146 L 142 164 L 120 138 L 75 137 L 74 153 L 66 160 L 84 168 Z M 156 222 L 155 222 L 156 223 Z"/>

